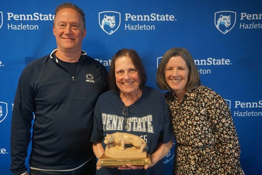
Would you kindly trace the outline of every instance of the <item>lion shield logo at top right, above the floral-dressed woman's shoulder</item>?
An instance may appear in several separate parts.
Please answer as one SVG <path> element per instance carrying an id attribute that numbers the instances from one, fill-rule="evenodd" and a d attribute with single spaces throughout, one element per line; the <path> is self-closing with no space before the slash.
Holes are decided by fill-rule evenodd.
<path id="1" fill-rule="evenodd" d="M 215 12 L 215 26 L 223 34 L 228 33 L 236 24 L 236 12 Z"/>

